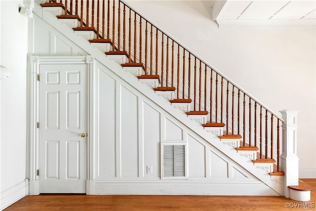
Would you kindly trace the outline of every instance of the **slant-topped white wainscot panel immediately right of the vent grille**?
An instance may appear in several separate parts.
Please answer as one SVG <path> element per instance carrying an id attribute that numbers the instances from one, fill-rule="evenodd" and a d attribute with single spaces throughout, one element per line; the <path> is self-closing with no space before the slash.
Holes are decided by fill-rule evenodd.
<path id="1" fill-rule="evenodd" d="M 205 146 L 188 135 L 189 177 L 205 177 Z"/>

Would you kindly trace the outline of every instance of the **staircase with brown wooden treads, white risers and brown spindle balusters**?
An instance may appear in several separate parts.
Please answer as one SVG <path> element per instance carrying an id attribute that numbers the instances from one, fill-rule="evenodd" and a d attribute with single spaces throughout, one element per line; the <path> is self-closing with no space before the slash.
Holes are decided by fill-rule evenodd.
<path id="1" fill-rule="evenodd" d="M 236 157 L 233 149 L 245 158 L 243 167 L 287 196 L 280 165 L 280 127 L 286 116 L 279 117 L 122 1 L 50 0 L 40 6 L 43 17 L 56 15 L 91 47 L 216 137 L 213 140 L 222 143 L 231 158 Z"/>

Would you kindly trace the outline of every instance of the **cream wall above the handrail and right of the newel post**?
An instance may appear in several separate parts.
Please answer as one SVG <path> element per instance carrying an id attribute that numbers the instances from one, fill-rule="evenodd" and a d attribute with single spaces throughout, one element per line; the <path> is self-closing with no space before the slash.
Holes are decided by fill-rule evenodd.
<path id="1" fill-rule="evenodd" d="M 210 1 L 125 2 L 274 112 L 299 110 L 300 178 L 316 177 L 315 29 L 219 29 Z"/>

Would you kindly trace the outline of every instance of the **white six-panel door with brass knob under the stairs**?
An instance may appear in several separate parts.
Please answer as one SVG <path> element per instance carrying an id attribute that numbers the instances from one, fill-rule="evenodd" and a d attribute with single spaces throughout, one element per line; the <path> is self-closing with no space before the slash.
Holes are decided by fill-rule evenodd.
<path id="1" fill-rule="evenodd" d="M 86 64 L 40 64 L 40 193 L 86 192 Z"/>

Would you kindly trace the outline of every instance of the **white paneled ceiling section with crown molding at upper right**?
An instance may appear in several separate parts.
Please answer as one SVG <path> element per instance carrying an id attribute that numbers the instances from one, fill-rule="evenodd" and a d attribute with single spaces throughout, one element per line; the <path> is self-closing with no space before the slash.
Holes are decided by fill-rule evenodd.
<path id="1" fill-rule="evenodd" d="M 219 27 L 315 28 L 316 0 L 213 0 Z"/>

